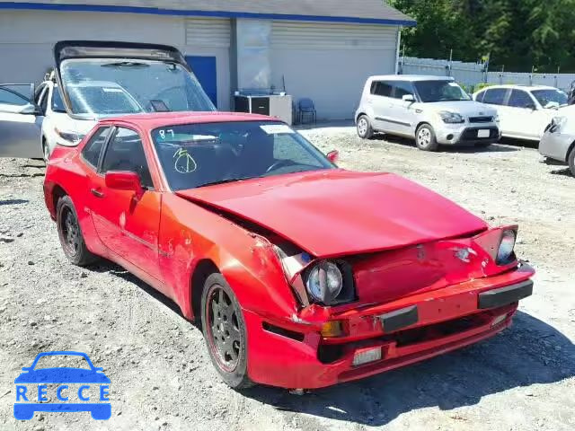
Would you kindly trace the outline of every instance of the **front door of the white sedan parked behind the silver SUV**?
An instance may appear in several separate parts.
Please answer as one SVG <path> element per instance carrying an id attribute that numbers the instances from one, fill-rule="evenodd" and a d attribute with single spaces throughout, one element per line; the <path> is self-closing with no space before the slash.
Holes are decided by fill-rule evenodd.
<path id="1" fill-rule="evenodd" d="M 510 135 L 539 139 L 547 124 L 547 117 L 543 110 L 538 109 L 529 92 L 512 89 L 504 109 L 507 111 L 506 121 Z"/>

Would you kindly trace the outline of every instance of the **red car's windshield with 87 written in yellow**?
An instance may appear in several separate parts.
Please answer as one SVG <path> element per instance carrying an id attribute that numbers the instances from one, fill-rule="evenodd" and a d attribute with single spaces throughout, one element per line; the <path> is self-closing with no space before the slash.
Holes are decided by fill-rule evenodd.
<path id="1" fill-rule="evenodd" d="M 168 126 L 156 128 L 152 140 L 174 190 L 335 168 L 304 136 L 280 122 Z"/>

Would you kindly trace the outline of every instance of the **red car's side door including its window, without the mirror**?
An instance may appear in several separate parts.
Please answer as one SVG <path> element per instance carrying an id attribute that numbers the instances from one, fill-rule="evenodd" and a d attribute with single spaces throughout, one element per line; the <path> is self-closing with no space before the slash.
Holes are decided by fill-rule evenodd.
<path id="1" fill-rule="evenodd" d="M 111 252 L 161 282 L 158 231 L 162 195 L 155 191 L 137 131 L 116 128 L 99 165 L 88 191 L 96 233 Z M 105 174 L 111 171 L 136 172 L 145 189 L 143 195 L 108 188 Z"/>

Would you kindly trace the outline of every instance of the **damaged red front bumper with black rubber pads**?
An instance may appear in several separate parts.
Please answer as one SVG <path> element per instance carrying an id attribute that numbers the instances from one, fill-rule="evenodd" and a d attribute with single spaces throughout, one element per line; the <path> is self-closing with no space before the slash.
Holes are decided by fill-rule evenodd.
<path id="1" fill-rule="evenodd" d="M 523 265 L 496 277 L 334 313 L 331 319 L 347 328 L 341 338 L 323 338 L 305 321 L 298 321 L 299 330 L 290 324 L 290 330 L 270 331 L 269 320 L 244 310 L 248 373 L 256 383 L 315 389 L 468 346 L 509 327 L 518 301 L 531 295 L 534 273 Z M 381 348 L 380 360 L 353 365 L 358 351 L 373 347 Z"/>

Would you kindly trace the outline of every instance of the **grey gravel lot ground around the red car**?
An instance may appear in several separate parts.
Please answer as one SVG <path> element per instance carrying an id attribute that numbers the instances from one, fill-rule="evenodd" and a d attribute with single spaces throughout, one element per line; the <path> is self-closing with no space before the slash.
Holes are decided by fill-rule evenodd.
<path id="1" fill-rule="evenodd" d="M 304 396 L 270 388 L 240 394 L 220 383 L 199 330 L 172 303 L 114 265 L 67 263 L 44 207 L 42 163 L 0 160 L 0 428 L 575 429 L 575 178 L 517 146 L 428 154 L 403 141 L 363 142 L 352 128 L 304 133 L 324 151 L 340 150 L 342 167 L 397 172 L 491 224 L 520 224 L 518 254 L 538 273 L 512 329 Z M 13 418 L 14 378 L 49 350 L 83 351 L 103 367 L 111 420 Z"/>

